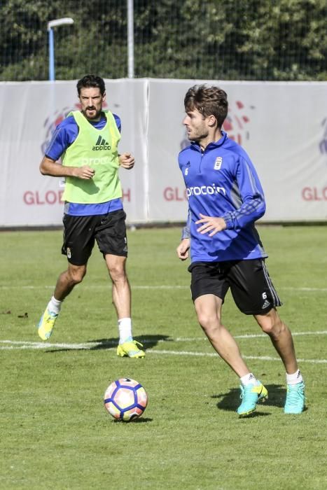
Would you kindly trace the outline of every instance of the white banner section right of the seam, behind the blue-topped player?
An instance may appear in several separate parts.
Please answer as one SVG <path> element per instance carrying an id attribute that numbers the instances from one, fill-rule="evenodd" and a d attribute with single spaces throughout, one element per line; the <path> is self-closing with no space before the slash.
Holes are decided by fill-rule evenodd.
<path id="1" fill-rule="evenodd" d="M 179 220 L 187 209 L 176 155 L 188 145 L 183 98 L 195 83 L 204 82 L 150 80 L 153 220 Z M 327 220 L 327 83 L 209 83 L 228 93 L 223 129 L 244 147 L 263 185 L 267 211 L 261 221 Z"/>

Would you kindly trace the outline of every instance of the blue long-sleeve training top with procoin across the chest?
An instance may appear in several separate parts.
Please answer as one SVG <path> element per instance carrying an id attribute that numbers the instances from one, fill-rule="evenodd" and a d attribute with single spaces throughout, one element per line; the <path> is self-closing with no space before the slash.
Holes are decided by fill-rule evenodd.
<path id="1" fill-rule="evenodd" d="M 204 151 L 193 142 L 179 153 L 189 209 L 183 237 L 191 239 L 191 262 L 267 257 L 254 226 L 265 214 L 263 188 L 249 155 L 222 134 Z M 197 232 L 201 225 L 195 225 L 200 213 L 223 218 L 226 230 L 213 237 L 201 235 Z"/>

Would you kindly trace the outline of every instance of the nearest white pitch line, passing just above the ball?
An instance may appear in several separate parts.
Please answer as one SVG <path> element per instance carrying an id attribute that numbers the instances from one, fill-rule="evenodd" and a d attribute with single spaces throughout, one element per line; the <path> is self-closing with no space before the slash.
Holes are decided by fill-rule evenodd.
<path id="1" fill-rule="evenodd" d="M 113 342 L 108 342 L 112 344 Z M 77 350 L 85 349 L 89 350 L 96 348 L 97 346 L 104 346 L 102 342 L 88 342 L 85 344 L 53 344 L 50 342 L 24 342 L 19 340 L 0 340 L 0 344 L 8 344 L 0 346 L 0 350 L 13 350 L 13 349 L 65 349 L 65 350 Z M 116 345 L 116 342 L 115 342 Z M 108 347 L 107 350 L 114 350 L 116 347 Z M 167 356 L 197 356 L 197 357 L 215 357 L 218 356 L 215 352 L 195 352 L 195 351 L 169 351 L 169 350 L 155 350 L 148 349 L 147 353 L 167 355 Z M 279 360 L 279 357 L 271 356 L 243 356 L 244 359 L 252 360 Z M 301 363 L 312 363 L 312 364 L 327 364 L 327 359 L 298 359 Z"/>

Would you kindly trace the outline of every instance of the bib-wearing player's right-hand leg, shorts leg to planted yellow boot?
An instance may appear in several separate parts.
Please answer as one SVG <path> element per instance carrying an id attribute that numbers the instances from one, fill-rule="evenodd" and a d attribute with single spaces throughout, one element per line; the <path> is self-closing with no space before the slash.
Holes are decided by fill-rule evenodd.
<path id="1" fill-rule="evenodd" d="M 127 237 L 123 209 L 103 216 L 95 238 L 104 255 L 109 276 L 113 283 L 112 297 L 116 308 L 119 330 L 118 356 L 141 358 L 142 346 L 132 337 L 131 290 L 126 272 Z"/>

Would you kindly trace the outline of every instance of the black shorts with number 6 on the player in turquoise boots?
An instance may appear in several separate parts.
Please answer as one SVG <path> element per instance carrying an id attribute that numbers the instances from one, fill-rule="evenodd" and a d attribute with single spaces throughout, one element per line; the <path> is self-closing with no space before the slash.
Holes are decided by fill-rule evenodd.
<path id="1" fill-rule="evenodd" d="M 193 301 L 205 294 L 224 300 L 230 288 L 237 308 L 246 315 L 263 315 L 281 306 L 263 259 L 194 262 L 188 270 Z"/>

